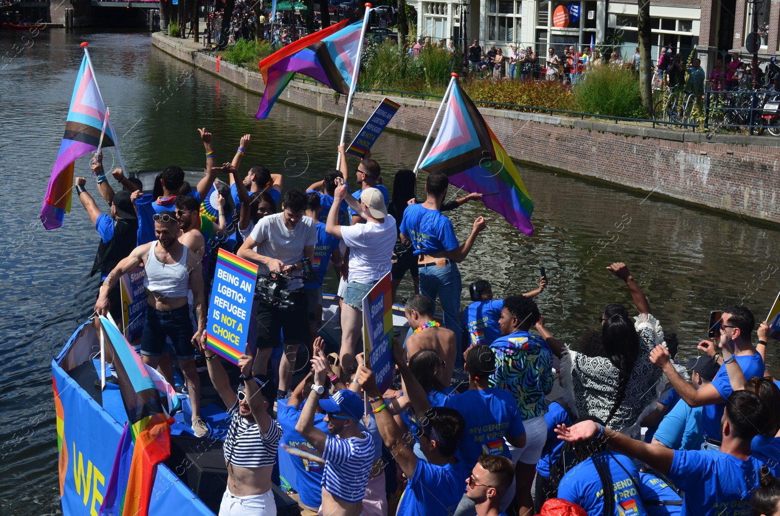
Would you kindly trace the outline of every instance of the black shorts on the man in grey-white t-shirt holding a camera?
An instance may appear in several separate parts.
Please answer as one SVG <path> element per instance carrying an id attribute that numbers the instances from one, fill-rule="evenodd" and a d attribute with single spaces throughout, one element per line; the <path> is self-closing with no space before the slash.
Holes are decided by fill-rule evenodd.
<path id="1" fill-rule="evenodd" d="M 294 305 L 278 309 L 263 302 L 257 303 L 257 348 L 278 348 L 285 344 L 309 344 L 309 297 L 303 288 L 292 292 Z"/>

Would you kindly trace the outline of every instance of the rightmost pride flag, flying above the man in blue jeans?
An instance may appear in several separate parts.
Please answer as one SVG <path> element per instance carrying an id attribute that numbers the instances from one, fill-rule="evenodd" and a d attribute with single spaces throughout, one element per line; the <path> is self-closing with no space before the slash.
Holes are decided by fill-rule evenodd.
<path id="1" fill-rule="evenodd" d="M 482 199 L 485 206 L 526 235 L 534 234 L 530 221 L 534 203 L 523 179 L 457 81 L 436 140 L 420 168 L 444 172 L 456 188 L 487 194 Z"/>

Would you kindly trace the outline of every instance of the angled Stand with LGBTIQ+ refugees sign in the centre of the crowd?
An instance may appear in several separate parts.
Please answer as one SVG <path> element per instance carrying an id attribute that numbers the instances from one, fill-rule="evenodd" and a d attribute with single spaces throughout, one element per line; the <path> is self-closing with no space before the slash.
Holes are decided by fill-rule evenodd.
<path id="1" fill-rule="evenodd" d="M 374 371 L 381 392 L 395 379 L 392 337 L 392 288 L 388 272 L 363 298 L 363 352 L 366 366 Z"/>

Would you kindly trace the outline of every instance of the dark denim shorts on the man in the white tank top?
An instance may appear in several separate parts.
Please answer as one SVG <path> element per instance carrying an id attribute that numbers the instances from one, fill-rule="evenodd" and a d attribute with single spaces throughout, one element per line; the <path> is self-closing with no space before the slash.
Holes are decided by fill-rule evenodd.
<path id="1" fill-rule="evenodd" d="M 190 305 L 172 310 L 158 310 L 147 306 L 144 333 L 141 334 L 141 355 L 160 356 L 166 350 L 166 337 L 171 338 L 179 360 L 195 357 Z"/>

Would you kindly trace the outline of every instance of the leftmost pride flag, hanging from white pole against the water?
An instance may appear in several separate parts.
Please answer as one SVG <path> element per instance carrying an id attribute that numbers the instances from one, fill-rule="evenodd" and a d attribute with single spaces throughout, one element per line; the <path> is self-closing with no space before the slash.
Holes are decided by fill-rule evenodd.
<path id="1" fill-rule="evenodd" d="M 86 48 L 84 50 L 86 51 Z M 76 86 L 73 88 L 73 97 L 70 99 L 65 136 L 62 136 L 57 161 L 51 170 L 46 189 L 44 205 L 41 207 L 44 228 L 59 228 L 65 214 L 70 212 L 73 165 L 84 154 L 97 150 L 105 114 L 106 108 L 100 90 L 97 89 L 94 70 L 85 53 L 76 78 Z M 111 122 L 108 122 L 103 147 L 113 147 L 115 141 L 116 133 Z"/>

